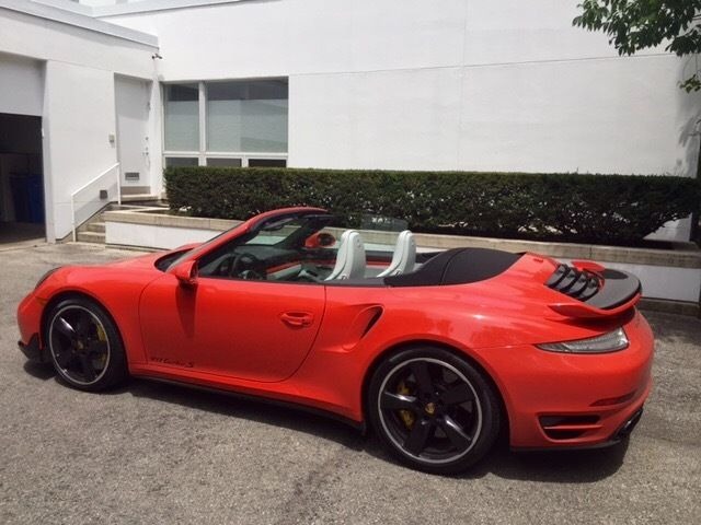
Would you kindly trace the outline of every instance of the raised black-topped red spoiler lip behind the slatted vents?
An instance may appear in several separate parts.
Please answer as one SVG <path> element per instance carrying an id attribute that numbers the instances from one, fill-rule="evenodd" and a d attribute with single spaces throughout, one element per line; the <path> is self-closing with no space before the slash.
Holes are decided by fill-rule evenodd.
<path id="1" fill-rule="evenodd" d="M 560 315 L 566 317 L 612 317 L 619 315 L 637 304 L 642 295 L 640 280 L 625 271 L 605 269 L 596 265 L 596 268 L 586 268 L 582 261 L 575 262 L 577 268 L 596 273 L 599 278 L 599 290 L 586 301 L 571 299 L 548 306 Z"/>

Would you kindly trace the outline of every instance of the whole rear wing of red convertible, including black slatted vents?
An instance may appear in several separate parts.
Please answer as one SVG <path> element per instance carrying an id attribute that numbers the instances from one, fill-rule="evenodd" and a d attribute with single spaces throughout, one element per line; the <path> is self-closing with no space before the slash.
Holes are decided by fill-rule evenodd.
<path id="1" fill-rule="evenodd" d="M 635 276 L 589 261 L 560 265 L 545 285 L 567 296 L 548 305 L 566 317 L 616 316 L 635 306 L 642 295 Z"/>

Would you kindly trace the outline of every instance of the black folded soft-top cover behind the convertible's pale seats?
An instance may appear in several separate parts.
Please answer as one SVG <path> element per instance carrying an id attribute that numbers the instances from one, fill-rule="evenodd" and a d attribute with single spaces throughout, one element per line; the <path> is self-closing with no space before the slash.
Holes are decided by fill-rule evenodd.
<path id="1" fill-rule="evenodd" d="M 467 284 L 491 279 L 506 271 L 521 254 L 489 248 L 455 248 L 436 255 L 418 270 L 386 277 L 390 287 Z"/>

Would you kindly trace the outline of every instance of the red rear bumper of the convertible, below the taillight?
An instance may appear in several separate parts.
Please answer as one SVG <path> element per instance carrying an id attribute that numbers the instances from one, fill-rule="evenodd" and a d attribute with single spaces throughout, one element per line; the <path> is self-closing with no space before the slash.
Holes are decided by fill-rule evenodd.
<path id="1" fill-rule="evenodd" d="M 543 355 L 536 347 L 512 348 L 519 366 L 506 369 L 512 372 L 499 383 L 513 448 L 600 447 L 633 430 L 652 389 L 653 336 L 637 313 L 623 328 L 630 346 L 620 352 Z"/>

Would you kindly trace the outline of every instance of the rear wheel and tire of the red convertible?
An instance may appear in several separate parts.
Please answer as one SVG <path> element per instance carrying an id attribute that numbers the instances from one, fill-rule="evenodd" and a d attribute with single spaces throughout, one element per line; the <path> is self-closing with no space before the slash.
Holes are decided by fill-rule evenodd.
<path id="1" fill-rule="evenodd" d="M 430 346 L 386 359 L 368 385 L 375 432 L 405 465 L 458 474 L 496 441 L 501 411 L 494 387 L 467 360 Z"/>

